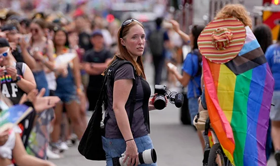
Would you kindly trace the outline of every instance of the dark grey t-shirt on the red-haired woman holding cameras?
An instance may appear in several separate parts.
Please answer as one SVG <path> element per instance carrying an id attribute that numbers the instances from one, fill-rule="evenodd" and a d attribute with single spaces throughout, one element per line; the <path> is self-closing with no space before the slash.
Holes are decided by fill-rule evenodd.
<path id="1" fill-rule="evenodd" d="M 135 79 L 133 67 L 130 64 L 124 64 L 120 66 L 115 72 L 115 80 L 119 79 Z M 108 114 L 109 119 L 106 123 L 106 138 L 123 138 L 120 129 L 117 124 L 115 112 L 113 110 L 113 88 L 111 85 L 107 86 L 108 95 Z M 133 120 L 131 131 L 133 138 L 145 136 L 150 133 L 149 129 L 149 107 L 148 102 L 151 95 L 151 89 L 148 82 L 142 77 L 138 77 L 137 92 L 136 92 L 136 103 L 134 106 Z M 129 117 L 130 104 L 131 104 L 132 93 L 129 94 L 128 100 L 125 104 L 125 110 Z M 146 111 L 146 113 L 144 113 Z M 146 115 L 146 120 L 144 118 Z"/>

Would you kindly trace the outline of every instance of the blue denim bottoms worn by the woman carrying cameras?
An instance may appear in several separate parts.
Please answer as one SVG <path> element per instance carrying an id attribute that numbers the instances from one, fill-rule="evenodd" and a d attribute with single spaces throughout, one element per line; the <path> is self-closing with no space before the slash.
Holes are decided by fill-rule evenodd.
<path id="1" fill-rule="evenodd" d="M 150 136 L 146 135 L 143 137 L 134 139 L 138 152 L 143 152 L 147 149 L 154 148 Z M 111 139 L 102 137 L 103 149 L 106 152 L 106 165 L 113 166 L 112 158 L 121 157 L 121 154 L 126 149 L 126 143 L 123 138 Z M 139 164 L 141 166 L 157 166 L 157 163 L 152 164 Z"/>

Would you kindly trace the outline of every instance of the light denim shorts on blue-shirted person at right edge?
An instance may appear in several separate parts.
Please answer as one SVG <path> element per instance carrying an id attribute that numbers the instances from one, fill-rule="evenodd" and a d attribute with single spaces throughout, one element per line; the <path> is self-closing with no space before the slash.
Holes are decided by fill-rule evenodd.
<path id="1" fill-rule="evenodd" d="M 272 104 L 270 109 L 270 119 L 272 121 L 280 121 L 280 91 L 274 91 L 272 97 Z"/>

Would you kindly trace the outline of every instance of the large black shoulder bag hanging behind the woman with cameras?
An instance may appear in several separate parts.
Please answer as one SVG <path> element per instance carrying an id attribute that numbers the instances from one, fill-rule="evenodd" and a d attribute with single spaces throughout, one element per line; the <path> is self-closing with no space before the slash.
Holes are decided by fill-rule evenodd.
<path id="1" fill-rule="evenodd" d="M 93 114 L 88 122 L 88 126 L 86 131 L 83 134 L 83 137 L 80 141 L 78 146 L 78 151 L 85 156 L 85 158 L 89 160 L 106 160 L 106 153 L 103 150 L 102 146 L 102 137 L 105 135 L 105 127 L 101 126 L 102 120 L 102 104 L 104 101 L 105 107 L 107 108 L 107 84 L 112 84 L 114 82 L 114 74 L 117 69 L 122 66 L 123 64 L 131 64 L 129 61 L 120 60 L 117 58 L 112 65 L 106 70 L 103 85 L 101 92 L 99 94 L 99 98 L 97 100 L 96 106 L 94 108 Z M 133 66 L 133 65 L 132 65 Z M 133 67 L 134 68 L 134 67 Z M 129 124 L 130 127 L 132 125 L 133 113 L 134 113 L 134 106 L 135 106 L 135 96 L 137 90 L 137 75 L 134 71 L 133 80 L 133 87 L 132 91 L 132 101 L 130 106 L 130 113 L 129 113 Z M 104 125 L 106 125 L 106 121 L 104 120 Z"/>

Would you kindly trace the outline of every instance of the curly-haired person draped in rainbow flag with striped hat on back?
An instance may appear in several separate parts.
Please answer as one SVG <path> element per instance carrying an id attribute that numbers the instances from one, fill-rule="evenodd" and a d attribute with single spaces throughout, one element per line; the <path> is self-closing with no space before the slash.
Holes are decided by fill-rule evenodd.
<path id="1" fill-rule="evenodd" d="M 274 79 L 242 5 L 226 5 L 198 37 L 207 110 L 233 165 L 267 165 Z M 203 101 L 202 101 L 203 102 Z"/>

